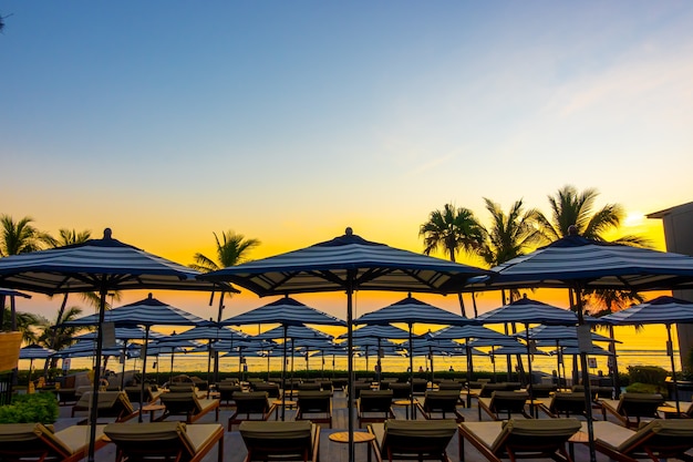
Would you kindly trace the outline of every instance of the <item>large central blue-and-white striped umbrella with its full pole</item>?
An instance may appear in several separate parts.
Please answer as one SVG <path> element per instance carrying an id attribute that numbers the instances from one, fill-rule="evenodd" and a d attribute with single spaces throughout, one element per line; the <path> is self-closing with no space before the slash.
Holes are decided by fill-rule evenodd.
<path id="1" fill-rule="evenodd" d="M 354 290 L 452 292 L 472 276 L 487 271 L 369 242 L 346 228 L 343 236 L 303 249 L 208 273 L 203 278 L 236 281 L 260 296 L 345 291 L 346 326 L 352 330 Z M 348 349 L 353 351 L 349 333 Z M 348 360 L 349 384 L 353 361 Z M 348 398 L 349 462 L 354 460 L 353 393 Z"/>

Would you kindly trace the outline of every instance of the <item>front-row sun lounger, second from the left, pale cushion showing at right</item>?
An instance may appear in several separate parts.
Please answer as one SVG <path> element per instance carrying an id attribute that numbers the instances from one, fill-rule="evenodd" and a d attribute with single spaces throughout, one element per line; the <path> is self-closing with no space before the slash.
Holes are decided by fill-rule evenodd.
<path id="1" fill-rule="evenodd" d="M 217 445 L 217 460 L 224 458 L 224 428 L 218 423 L 184 422 L 111 423 L 104 433 L 117 448 L 116 462 L 199 462 Z M 164 459 L 168 456 L 169 459 Z"/>

